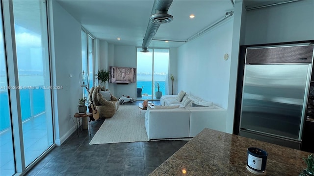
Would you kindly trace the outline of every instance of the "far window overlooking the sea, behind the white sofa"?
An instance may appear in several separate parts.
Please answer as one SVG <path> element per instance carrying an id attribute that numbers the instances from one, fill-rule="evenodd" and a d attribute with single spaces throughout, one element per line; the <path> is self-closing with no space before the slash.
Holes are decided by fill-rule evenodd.
<path id="1" fill-rule="evenodd" d="M 162 95 L 168 94 L 169 49 L 148 49 L 140 52 L 137 48 L 137 88 L 141 95 L 137 99 L 156 99 L 157 83 Z"/>

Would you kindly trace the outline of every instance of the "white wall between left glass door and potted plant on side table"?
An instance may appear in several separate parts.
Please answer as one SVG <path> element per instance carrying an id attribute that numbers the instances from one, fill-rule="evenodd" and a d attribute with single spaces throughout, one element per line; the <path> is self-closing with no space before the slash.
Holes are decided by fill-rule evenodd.
<path id="1" fill-rule="evenodd" d="M 56 1 L 49 4 L 53 14 L 50 14 L 53 85 L 63 87 L 53 90 L 55 143 L 60 145 L 76 130 L 72 118 L 82 97 L 83 90 L 78 84 L 82 69 L 81 25 Z"/>

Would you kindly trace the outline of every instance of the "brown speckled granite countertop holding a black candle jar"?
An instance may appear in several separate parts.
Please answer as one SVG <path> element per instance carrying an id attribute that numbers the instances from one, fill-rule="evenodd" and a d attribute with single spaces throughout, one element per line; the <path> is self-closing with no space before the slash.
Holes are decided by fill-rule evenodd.
<path id="1" fill-rule="evenodd" d="M 261 148 L 268 153 L 267 176 L 298 176 L 307 167 L 302 157 L 311 154 L 204 129 L 149 176 L 256 176 L 246 169 L 249 147 Z"/>

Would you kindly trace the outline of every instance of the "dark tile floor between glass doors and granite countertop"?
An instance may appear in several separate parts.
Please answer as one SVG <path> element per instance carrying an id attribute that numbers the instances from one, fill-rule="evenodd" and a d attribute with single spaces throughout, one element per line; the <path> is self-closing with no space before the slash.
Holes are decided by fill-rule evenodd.
<path id="1" fill-rule="evenodd" d="M 157 103 L 155 103 L 157 104 Z M 136 105 L 133 102 L 132 105 Z M 123 105 L 125 106 L 125 105 Z M 104 120 L 92 122 L 91 135 L 74 132 L 25 176 L 148 176 L 187 141 L 89 145 Z"/>

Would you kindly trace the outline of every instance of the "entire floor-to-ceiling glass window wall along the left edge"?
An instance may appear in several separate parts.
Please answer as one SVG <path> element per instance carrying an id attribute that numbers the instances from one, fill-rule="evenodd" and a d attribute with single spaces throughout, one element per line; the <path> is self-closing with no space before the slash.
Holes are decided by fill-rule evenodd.
<path id="1" fill-rule="evenodd" d="M 23 173 L 53 145 L 52 89 L 62 87 L 51 85 L 46 1 L 1 1 L 1 8 L 0 175 L 11 176 Z M 2 146 L 10 132 L 11 140 Z"/>

